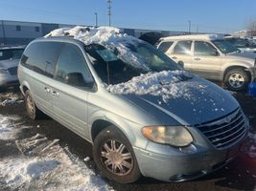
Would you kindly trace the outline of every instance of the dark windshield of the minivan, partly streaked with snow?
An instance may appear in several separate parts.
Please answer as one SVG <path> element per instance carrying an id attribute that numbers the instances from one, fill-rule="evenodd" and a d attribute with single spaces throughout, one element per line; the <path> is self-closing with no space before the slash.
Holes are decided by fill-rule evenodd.
<path id="1" fill-rule="evenodd" d="M 133 42 L 124 46 L 124 50 L 99 44 L 84 46 L 95 71 L 106 84 L 127 82 L 148 72 L 182 70 L 174 60 L 148 43 Z"/>

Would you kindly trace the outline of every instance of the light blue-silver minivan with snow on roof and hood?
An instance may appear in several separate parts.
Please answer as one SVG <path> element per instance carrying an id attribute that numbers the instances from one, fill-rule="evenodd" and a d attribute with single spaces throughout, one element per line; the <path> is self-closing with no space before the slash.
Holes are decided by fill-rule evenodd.
<path id="1" fill-rule="evenodd" d="M 217 85 L 115 28 L 59 29 L 18 67 L 29 117 L 44 113 L 93 145 L 103 175 L 193 180 L 238 154 L 248 121 Z"/>

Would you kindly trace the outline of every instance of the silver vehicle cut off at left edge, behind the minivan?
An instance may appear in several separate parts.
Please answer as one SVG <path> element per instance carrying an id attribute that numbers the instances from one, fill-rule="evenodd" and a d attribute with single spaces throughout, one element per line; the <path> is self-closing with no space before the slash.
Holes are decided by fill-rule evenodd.
<path id="1" fill-rule="evenodd" d="M 25 47 L 0 47 L 0 89 L 18 85 L 17 67 Z"/>

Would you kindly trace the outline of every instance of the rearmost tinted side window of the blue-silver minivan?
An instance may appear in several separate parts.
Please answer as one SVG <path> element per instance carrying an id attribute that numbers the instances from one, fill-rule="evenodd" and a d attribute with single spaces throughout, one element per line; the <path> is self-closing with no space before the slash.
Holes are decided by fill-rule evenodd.
<path id="1" fill-rule="evenodd" d="M 39 74 L 53 77 L 62 46 L 60 42 L 35 42 L 23 53 L 21 64 Z"/>

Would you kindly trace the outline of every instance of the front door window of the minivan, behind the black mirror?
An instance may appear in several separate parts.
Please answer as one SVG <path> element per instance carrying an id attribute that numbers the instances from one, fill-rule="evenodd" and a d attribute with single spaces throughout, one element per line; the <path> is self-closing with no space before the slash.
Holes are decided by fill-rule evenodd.
<path id="1" fill-rule="evenodd" d="M 56 79 L 75 87 L 93 87 L 93 77 L 81 50 L 76 45 L 66 44 L 59 54 Z"/>

